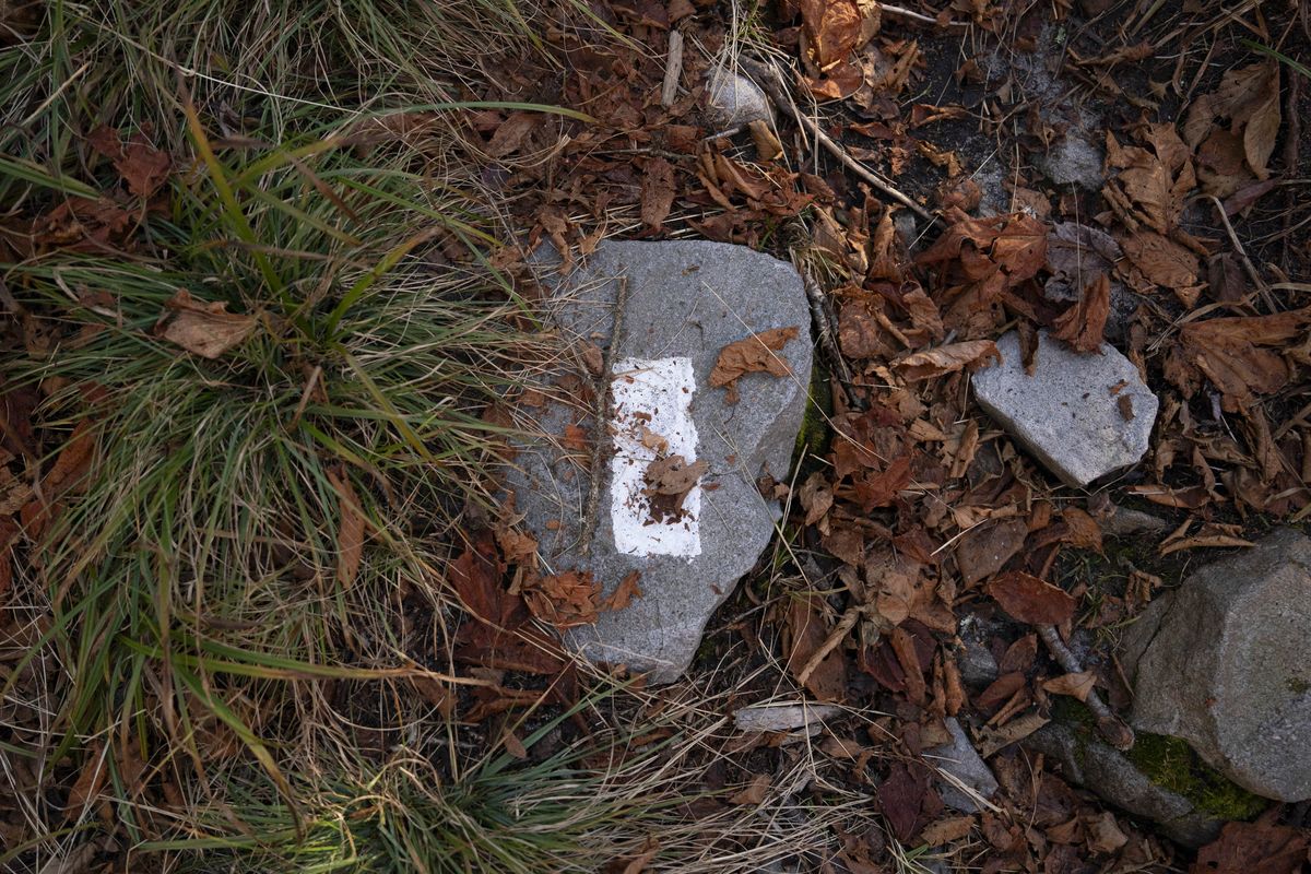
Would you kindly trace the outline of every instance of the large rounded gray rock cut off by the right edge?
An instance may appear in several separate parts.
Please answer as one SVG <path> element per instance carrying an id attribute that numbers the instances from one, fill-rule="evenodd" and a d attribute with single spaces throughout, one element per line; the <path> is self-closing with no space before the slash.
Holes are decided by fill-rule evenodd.
<path id="1" fill-rule="evenodd" d="M 1311 798 L 1311 540 L 1278 531 L 1156 599 L 1125 641 L 1133 725 L 1259 795 Z"/>

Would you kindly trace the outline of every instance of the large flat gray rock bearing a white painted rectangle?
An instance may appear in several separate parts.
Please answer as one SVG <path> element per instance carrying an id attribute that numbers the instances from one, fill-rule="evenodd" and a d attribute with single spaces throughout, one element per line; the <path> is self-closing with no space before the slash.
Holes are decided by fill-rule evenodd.
<path id="1" fill-rule="evenodd" d="M 549 269 L 557 261 L 539 263 Z M 591 346 L 598 376 L 602 354 L 611 363 L 597 512 L 587 512 L 594 392 L 517 410 L 518 423 L 541 438 L 518 447 L 509 486 L 538 539 L 543 573 L 590 571 L 607 596 L 638 574 L 640 598 L 570 629 L 566 642 L 591 660 L 669 683 L 691 663 L 711 613 L 773 536 L 781 510 L 756 484 L 763 474 L 788 476 L 808 402 L 805 290 L 792 265 L 708 241 L 607 241 L 569 276 L 552 271 L 545 282 L 565 346 L 583 350 L 578 360 Z M 621 287 L 627 303 L 616 339 Z M 785 364 L 784 375 L 742 376 L 737 404 L 729 404 L 728 389 L 709 385 L 725 346 L 789 328 L 796 339 L 771 352 Z M 549 394 L 545 387 L 595 381 L 581 366 L 561 366 L 541 384 Z M 587 432 L 589 446 L 570 442 L 570 431 Z M 662 498 L 648 491 L 653 463 L 674 455 L 704 463 L 705 470 L 671 511 L 653 506 Z"/>

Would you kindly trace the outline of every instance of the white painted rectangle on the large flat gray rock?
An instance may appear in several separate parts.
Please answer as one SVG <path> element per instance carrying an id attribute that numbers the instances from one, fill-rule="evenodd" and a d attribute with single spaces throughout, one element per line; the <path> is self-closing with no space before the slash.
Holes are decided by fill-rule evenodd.
<path id="1" fill-rule="evenodd" d="M 658 448 L 683 456 L 688 464 L 696 460 L 692 359 L 624 358 L 615 362 L 610 390 L 615 404 L 615 456 L 610 463 L 615 549 L 629 556 L 700 556 L 701 484 L 697 481 L 683 498 L 684 514 L 676 520 L 652 519 L 650 499 L 642 494 L 646 468 Z M 662 440 L 667 447 L 659 446 Z"/>

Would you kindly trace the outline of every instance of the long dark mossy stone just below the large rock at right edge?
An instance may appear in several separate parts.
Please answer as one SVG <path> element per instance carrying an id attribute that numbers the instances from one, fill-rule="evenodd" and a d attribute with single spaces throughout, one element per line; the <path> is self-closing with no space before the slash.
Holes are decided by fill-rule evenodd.
<path id="1" fill-rule="evenodd" d="M 1215 840 L 1223 820 L 1138 770 L 1118 750 L 1061 722 L 1042 726 L 1024 739 L 1029 750 L 1061 763 L 1067 780 L 1087 786 L 1134 816 L 1156 823 L 1163 835 L 1185 846 Z"/>

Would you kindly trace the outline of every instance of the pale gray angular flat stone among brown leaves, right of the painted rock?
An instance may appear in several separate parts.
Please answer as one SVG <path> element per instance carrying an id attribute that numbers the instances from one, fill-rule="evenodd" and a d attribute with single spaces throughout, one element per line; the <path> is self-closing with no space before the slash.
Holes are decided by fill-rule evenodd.
<path id="1" fill-rule="evenodd" d="M 1072 486 L 1137 464 L 1147 452 L 1156 396 L 1113 346 L 1076 352 L 1038 332 L 1033 373 L 1019 334 L 998 341 L 1002 362 L 973 376 L 979 405 L 1049 470 Z"/>

